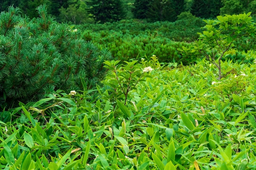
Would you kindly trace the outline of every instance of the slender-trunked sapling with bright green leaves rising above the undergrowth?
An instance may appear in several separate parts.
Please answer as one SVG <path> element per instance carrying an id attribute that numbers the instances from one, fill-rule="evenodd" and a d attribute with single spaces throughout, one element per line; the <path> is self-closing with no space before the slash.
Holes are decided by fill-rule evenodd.
<path id="1" fill-rule="evenodd" d="M 218 79 L 222 77 L 221 59 L 234 48 L 234 41 L 243 36 L 254 36 L 255 23 L 250 13 L 217 16 L 216 20 L 204 20 L 206 25 L 195 46 L 183 47 L 184 56 L 206 57 L 218 68 Z"/>

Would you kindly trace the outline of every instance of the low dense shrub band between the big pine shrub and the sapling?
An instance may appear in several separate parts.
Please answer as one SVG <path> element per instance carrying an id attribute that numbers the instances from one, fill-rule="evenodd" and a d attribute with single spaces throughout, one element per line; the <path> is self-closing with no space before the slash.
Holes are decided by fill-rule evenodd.
<path id="1" fill-rule="evenodd" d="M 190 14 L 190 13 L 189 13 Z M 190 46 L 198 38 L 204 22 L 200 18 L 184 13 L 175 22 L 140 22 L 125 20 L 105 24 L 83 24 L 76 26 L 84 30 L 82 38 L 92 41 L 99 48 L 107 47 L 116 60 L 159 56 L 161 62 L 190 62 L 182 57 L 177 48 Z M 180 41 L 180 42 L 179 42 Z"/>

